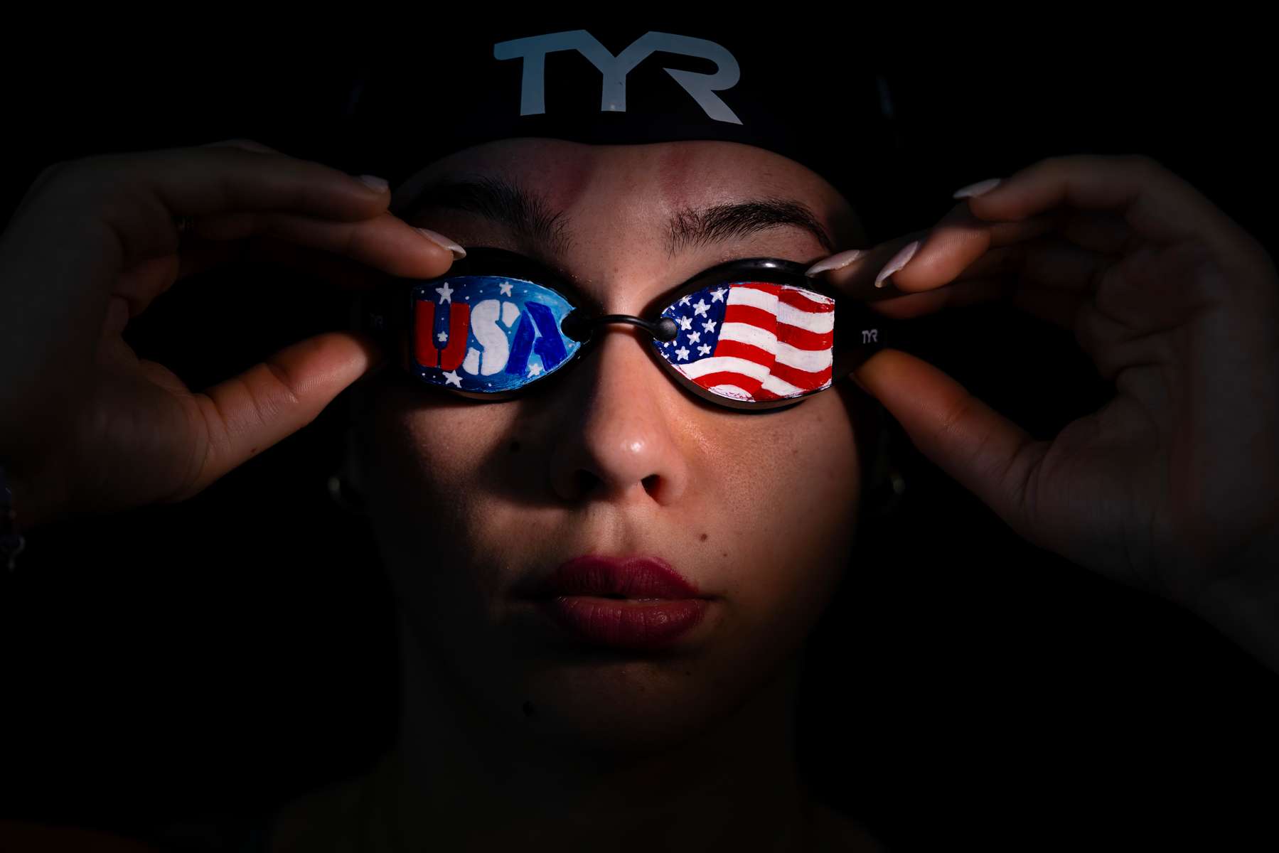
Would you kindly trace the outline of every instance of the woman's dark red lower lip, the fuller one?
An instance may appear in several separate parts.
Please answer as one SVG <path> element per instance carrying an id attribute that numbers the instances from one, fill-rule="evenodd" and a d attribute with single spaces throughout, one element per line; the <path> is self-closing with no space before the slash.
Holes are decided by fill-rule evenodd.
<path id="1" fill-rule="evenodd" d="M 556 596 L 537 606 L 573 637 L 613 648 L 663 648 L 706 615 L 706 599 L 602 599 Z"/>

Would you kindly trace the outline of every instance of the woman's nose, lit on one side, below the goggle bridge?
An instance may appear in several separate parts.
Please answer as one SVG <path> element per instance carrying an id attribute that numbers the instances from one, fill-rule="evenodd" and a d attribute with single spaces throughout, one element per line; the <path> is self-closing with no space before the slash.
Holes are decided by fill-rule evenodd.
<path id="1" fill-rule="evenodd" d="M 651 335 L 601 325 L 592 352 L 556 389 L 551 485 L 563 500 L 679 500 L 688 459 L 675 440 L 678 389 L 646 348 Z"/>

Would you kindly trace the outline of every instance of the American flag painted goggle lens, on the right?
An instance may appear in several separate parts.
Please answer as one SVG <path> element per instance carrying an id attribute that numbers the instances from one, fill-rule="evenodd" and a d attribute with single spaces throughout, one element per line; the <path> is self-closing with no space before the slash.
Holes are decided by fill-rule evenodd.
<path id="1" fill-rule="evenodd" d="M 775 400 L 830 385 L 835 301 L 771 281 L 703 288 L 663 311 L 679 325 L 663 357 L 705 389 Z M 656 341 L 655 341 L 656 343 Z"/>

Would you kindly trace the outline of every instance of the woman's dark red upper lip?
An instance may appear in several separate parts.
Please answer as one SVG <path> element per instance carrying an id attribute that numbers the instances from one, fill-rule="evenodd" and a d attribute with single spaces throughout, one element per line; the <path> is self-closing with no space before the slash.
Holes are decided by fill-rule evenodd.
<path id="1" fill-rule="evenodd" d="M 623 596 L 625 599 L 700 599 L 697 587 L 659 556 L 600 556 L 587 554 L 561 564 L 528 590 L 535 599 L 560 595 Z"/>

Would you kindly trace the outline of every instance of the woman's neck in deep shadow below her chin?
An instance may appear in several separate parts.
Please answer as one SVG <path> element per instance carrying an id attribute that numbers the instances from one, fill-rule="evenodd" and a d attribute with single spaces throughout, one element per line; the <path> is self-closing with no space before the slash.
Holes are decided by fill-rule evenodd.
<path id="1" fill-rule="evenodd" d="M 798 849 L 808 826 L 794 760 L 799 657 L 707 730 L 665 748 L 582 749 L 486 714 L 402 627 L 400 743 L 371 778 L 389 849 L 527 845 Z M 443 847 L 441 847 L 443 845 Z"/>

